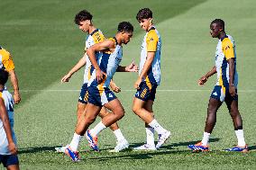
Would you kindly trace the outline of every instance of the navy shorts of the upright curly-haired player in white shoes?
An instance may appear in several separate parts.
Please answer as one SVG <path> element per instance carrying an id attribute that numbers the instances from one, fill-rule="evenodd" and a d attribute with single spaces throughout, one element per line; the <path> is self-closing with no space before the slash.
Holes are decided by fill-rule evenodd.
<path id="1" fill-rule="evenodd" d="M 135 94 L 135 97 L 141 99 L 142 101 L 154 101 L 156 97 L 156 90 L 158 85 L 147 84 L 143 81 L 139 85 L 139 89 Z"/>

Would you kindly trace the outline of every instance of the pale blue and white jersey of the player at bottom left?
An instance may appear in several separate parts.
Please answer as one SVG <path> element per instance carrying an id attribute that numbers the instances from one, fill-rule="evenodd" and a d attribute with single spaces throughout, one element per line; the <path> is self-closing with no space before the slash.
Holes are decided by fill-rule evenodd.
<path id="1" fill-rule="evenodd" d="M 16 145 L 16 137 L 14 134 L 14 100 L 13 100 L 12 94 L 10 94 L 7 90 L 0 91 L 0 98 L 2 98 L 5 101 L 5 107 L 8 113 L 14 143 Z M 8 150 L 8 140 L 6 138 L 4 125 L 1 119 L 0 119 L 0 155 L 11 155 L 11 153 Z"/>

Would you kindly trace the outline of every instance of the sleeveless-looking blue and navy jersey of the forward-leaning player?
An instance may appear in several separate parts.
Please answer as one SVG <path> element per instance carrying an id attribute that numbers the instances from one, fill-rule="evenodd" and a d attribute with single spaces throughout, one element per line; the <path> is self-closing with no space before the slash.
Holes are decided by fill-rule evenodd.
<path id="1" fill-rule="evenodd" d="M 105 50 L 102 52 L 102 55 L 97 58 L 97 64 L 100 67 L 101 71 L 106 74 L 106 76 L 104 76 L 104 80 L 100 84 L 98 84 L 96 81 L 96 69 L 94 69 L 93 77 L 91 78 L 88 86 L 96 86 L 98 89 L 101 89 L 103 87 L 109 87 L 110 81 L 122 60 L 122 46 L 117 44 L 117 40 L 115 39 L 115 37 L 109 40 L 114 41 L 114 51 L 111 52 L 110 50 Z"/>

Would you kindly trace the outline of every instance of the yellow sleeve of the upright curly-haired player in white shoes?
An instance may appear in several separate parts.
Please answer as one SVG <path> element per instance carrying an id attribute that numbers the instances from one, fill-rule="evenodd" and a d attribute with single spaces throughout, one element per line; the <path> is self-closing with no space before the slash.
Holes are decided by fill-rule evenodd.
<path id="1" fill-rule="evenodd" d="M 158 37 L 156 31 L 154 31 L 154 30 L 150 31 L 146 38 L 147 51 L 148 52 L 157 51 L 158 41 L 159 41 L 159 37 Z"/>

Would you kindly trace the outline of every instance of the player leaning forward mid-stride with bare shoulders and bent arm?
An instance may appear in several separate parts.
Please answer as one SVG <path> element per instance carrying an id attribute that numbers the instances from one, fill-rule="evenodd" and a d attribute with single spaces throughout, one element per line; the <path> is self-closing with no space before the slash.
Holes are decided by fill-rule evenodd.
<path id="1" fill-rule="evenodd" d="M 127 71 L 127 67 L 120 67 L 119 64 L 123 57 L 122 45 L 127 44 L 132 36 L 133 25 L 130 22 L 120 22 L 114 38 L 96 43 L 87 49 L 87 56 L 92 63 L 92 78 L 87 90 L 87 110 L 79 117 L 73 139 L 65 150 L 73 161 L 79 160 L 78 144 L 81 135 L 87 133 L 89 143 L 97 149 L 96 141 L 87 129 L 96 120 L 103 106 L 111 113 L 108 113 L 97 125 L 96 134 L 124 115 L 123 106 L 109 89 L 109 84 L 116 70 Z"/>

